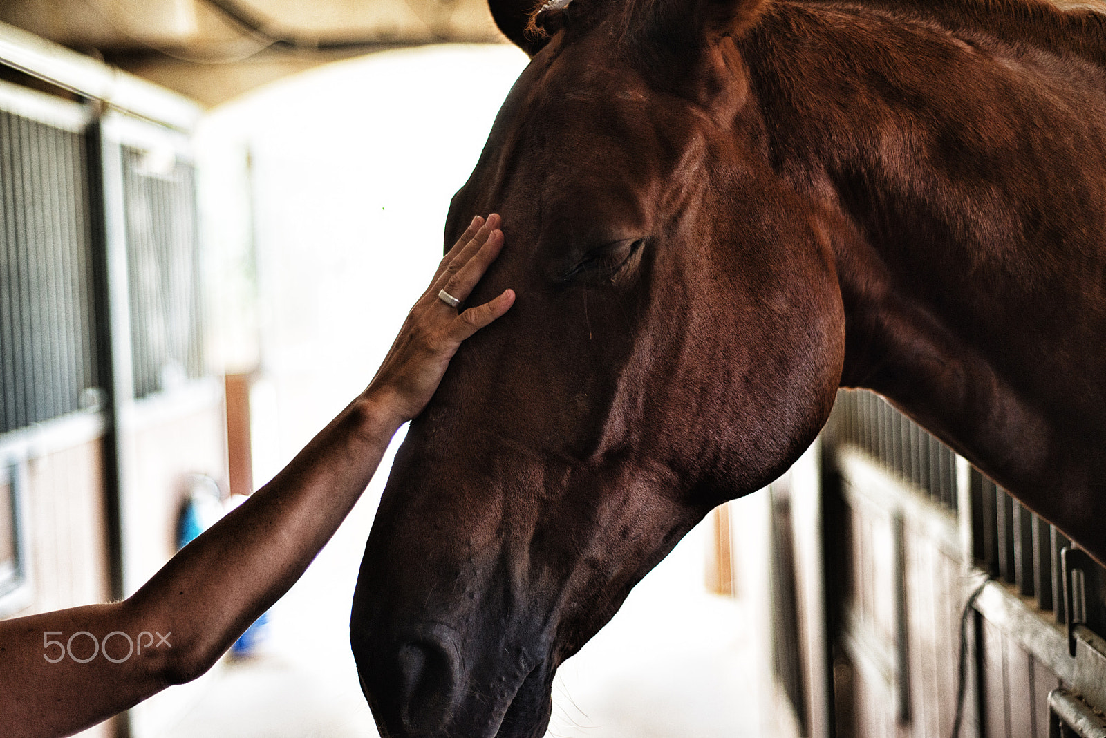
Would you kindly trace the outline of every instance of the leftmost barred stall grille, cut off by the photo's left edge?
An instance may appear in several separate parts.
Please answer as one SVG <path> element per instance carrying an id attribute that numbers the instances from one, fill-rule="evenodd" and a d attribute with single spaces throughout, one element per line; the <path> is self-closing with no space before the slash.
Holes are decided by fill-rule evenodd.
<path id="1" fill-rule="evenodd" d="M 0 109 L 0 433 L 95 404 L 86 151 Z"/>

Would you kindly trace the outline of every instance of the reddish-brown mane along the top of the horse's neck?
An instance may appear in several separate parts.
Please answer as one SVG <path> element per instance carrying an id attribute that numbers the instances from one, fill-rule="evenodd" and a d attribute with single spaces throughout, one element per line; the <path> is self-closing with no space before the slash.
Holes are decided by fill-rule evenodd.
<path id="1" fill-rule="evenodd" d="M 910 17 L 953 32 L 982 32 L 1019 46 L 1076 55 L 1106 66 L 1106 3 L 1067 9 L 1047 0 L 801 0 Z"/>

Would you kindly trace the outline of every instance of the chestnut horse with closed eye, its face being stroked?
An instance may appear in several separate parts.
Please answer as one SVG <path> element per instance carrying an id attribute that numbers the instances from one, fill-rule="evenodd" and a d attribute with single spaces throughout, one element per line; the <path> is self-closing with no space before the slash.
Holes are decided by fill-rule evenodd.
<path id="1" fill-rule="evenodd" d="M 387 737 L 534 738 L 712 507 L 880 393 L 1106 562 L 1106 15 L 492 0 L 531 55 L 446 223 L 518 301 L 410 425 L 354 595 Z M 461 112 L 463 114 L 463 112 Z"/>

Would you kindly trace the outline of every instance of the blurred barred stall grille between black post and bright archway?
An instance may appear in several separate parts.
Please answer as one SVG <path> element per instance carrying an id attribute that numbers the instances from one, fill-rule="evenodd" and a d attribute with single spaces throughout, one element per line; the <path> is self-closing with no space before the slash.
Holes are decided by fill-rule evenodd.
<path id="1" fill-rule="evenodd" d="M 123 148 L 136 399 L 205 370 L 194 172 L 165 156 Z"/>

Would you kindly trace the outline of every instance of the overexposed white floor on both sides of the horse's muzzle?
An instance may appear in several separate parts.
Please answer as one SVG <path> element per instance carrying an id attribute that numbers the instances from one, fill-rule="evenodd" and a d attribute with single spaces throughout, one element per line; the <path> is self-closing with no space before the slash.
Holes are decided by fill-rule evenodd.
<path id="1" fill-rule="evenodd" d="M 346 640 L 349 601 L 383 484 L 271 613 L 254 658 L 220 663 L 190 708 L 159 738 L 376 736 Z M 561 668 L 553 738 L 757 736 L 752 637 L 740 602 L 707 593 L 706 535 L 697 529 L 623 610 Z"/>

